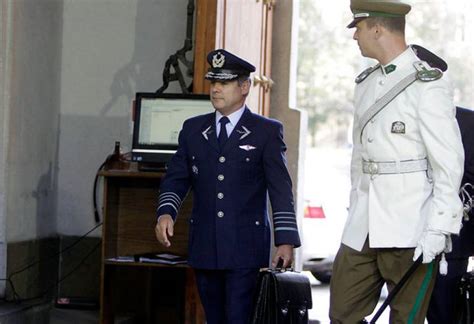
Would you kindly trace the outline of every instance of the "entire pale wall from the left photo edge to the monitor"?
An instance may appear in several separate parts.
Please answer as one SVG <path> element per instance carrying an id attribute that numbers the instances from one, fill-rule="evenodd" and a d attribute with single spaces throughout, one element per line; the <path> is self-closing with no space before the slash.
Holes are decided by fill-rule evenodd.
<path id="1" fill-rule="evenodd" d="M 96 170 L 115 141 L 130 149 L 132 98 L 161 87 L 184 45 L 187 5 L 0 2 L 0 265 L 6 241 L 95 225 Z M 166 92 L 180 92 L 177 83 Z"/>

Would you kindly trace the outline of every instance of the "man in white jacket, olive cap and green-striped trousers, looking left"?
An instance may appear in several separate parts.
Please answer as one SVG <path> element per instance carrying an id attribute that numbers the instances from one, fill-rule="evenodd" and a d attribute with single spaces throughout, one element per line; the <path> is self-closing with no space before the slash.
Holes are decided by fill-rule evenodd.
<path id="1" fill-rule="evenodd" d="M 405 41 L 398 0 L 352 0 L 354 39 L 379 64 L 356 79 L 352 190 L 331 281 L 332 323 L 372 313 L 420 255 L 391 323 L 423 323 L 437 271 L 461 226 L 464 153 L 450 84 Z"/>

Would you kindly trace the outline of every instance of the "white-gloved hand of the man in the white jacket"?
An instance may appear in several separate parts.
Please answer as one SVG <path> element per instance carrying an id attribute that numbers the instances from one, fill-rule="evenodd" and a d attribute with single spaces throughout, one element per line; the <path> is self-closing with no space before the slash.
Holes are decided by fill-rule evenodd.
<path id="1" fill-rule="evenodd" d="M 423 253 L 423 263 L 430 263 L 441 252 L 450 252 L 451 238 L 438 231 L 428 230 L 423 233 L 415 249 L 413 261 Z"/>

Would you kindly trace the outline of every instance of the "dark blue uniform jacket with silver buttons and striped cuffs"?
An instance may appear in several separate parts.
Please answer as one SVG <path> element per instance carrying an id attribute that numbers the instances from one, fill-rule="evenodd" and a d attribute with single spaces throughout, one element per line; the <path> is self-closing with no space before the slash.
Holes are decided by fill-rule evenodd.
<path id="1" fill-rule="evenodd" d="M 215 114 L 188 119 L 160 186 L 157 214 L 173 219 L 193 191 L 189 264 L 201 269 L 267 267 L 273 211 L 275 245 L 300 245 L 280 122 L 248 108 L 222 151 Z"/>

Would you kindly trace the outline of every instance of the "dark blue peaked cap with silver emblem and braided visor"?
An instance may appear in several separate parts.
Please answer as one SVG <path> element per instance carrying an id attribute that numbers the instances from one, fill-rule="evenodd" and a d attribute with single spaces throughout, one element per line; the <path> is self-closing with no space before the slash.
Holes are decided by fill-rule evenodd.
<path id="1" fill-rule="evenodd" d="M 211 67 L 205 78 L 211 81 L 232 81 L 255 72 L 255 66 L 224 49 L 209 52 L 207 62 Z"/>

